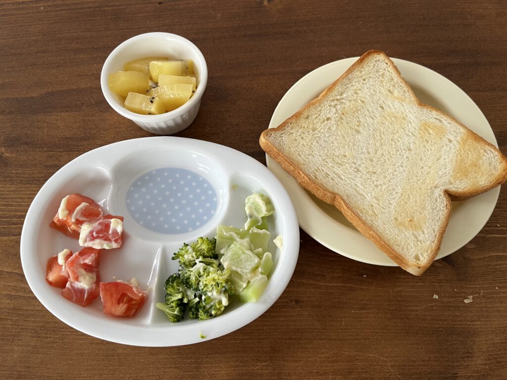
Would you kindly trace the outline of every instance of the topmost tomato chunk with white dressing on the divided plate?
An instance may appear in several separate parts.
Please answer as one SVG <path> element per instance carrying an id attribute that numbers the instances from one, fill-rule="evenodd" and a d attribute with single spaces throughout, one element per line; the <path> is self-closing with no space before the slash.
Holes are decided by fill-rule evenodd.
<path id="1" fill-rule="evenodd" d="M 83 223 L 93 223 L 102 217 L 102 209 L 91 198 L 70 194 L 62 199 L 60 208 L 50 226 L 76 239 Z"/>

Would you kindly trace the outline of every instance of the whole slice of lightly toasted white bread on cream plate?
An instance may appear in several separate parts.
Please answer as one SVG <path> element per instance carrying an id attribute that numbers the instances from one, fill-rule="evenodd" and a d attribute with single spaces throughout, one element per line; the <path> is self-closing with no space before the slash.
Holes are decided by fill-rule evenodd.
<path id="1" fill-rule="evenodd" d="M 507 158 L 445 113 L 420 103 L 380 51 L 336 82 L 260 144 L 289 174 L 406 271 L 437 255 L 451 199 L 507 179 Z"/>

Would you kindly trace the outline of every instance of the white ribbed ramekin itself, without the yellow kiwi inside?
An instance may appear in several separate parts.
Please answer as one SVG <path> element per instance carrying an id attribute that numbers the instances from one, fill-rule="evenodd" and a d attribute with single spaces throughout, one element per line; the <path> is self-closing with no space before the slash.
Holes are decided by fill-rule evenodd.
<path id="1" fill-rule="evenodd" d="M 133 59 L 144 57 L 168 57 L 169 59 L 191 59 L 197 78 L 197 89 L 184 105 L 162 115 L 139 115 L 126 109 L 120 97 L 107 85 L 107 77 L 123 70 L 123 65 Z M 187 128 L 194 121 L 201 105 L 201 97 L 208 81 L 208 68 L 201 51 L 182 36 L 154 32 L 139 34 L 120 44 L 107 57 L 100 74 L 100 86 L 105 100 L 121 116 L 132 120 L 142 129 L 158 135 L 170 135 Z"/>

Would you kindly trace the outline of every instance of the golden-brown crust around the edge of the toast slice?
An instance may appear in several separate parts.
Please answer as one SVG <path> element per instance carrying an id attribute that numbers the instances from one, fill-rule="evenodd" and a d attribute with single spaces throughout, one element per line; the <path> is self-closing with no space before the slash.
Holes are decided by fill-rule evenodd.
<path id="1" fill-rule="evenodd" d="M 327 189 L 319 186 L 318 183 L 312 181 L 310 178 L 308 178 L 298 167 L 295 163 L 288 160 L 269 140 L 269 135 L 273 133 L 274 131 L 280 131 L 283 128 L 285 128 L 289 122 L 292 120 L 298 119 L 302 113 L 307 109 L 311 108 L 313 105 L 319 103 L 322 101 L 322 98 L 325 97 L 325 95 L 328 94 L 328 92 L 332 91 L 336 86 L 338 86 L 343 78 L 347 77 L 347 75 L 355 69 L 358 65 L 360 65 L 364 60 L 366 60 L 368 57 L 374 54 L 381 54 L 386 58 L 386 61 L 389 63 L 391 68 L 396 73 L 397 77 L 402 81 L 402 83 L 407 87 L 409 90 L 409 94 L 413 101 L 421 106 L 425 107 L 427 109 L 432 110 L 433 112 L 437 112 L 440 117 L 448 119 L 452 121 L 453 123 L 459 125 L 463 128 L 464 133 L 468 134 L 469 138 L 472 138 L 478 142 L 485 143 L 492 147 L 495 150 L 498 150 L 494 145 L 490 144 L 486 140 L 484 140 L 482 137 L 474 133 L 473 131 L 466 128 L 464 125 L 459 123 L 457 120 L 453 119 L 446 113 L 433 108 L 427 104 L 423 104 L 417 99 L 414 92 L 412 91 L 409 84 L 403 79 L 400 71 L 397 69 L 397 67 L 394 65 L 394 63 L 387 57 L 387 55 L 379 50 L 370 50 L 363 54 L 359 59 L 357 59 L 356 62 L 354 62 L 341 76 L 338 78 L 334 83 L 332 83 L 327 89 L 325 89 L 317 98 L 310 101 L 308 104 L 306 104 L 303 108 L 301 108 L 299 111 L 297 111 L 293 116 L 286 119 L 282 124 L 280 124 L 276 128 L 267 129 L 262 132 L 259 143 L 261 147 L 264 149 L 264 151 L 273 158 L 287 173 L 292 175 L 298 183 L 306 188 L 310 193 L 315 195 L 320 200 L 334 205 L 336 208 L 338 208 L 343 215 L 356 227 L 356 229 L 363 234 L 365 237 L 367 237 L 369 240 L 371 240 L 380 250 L 382 250 L 389 258 L 391 258 L 396 264 L 398 264 L 401 268 L 406 270 L 407 272 L 420 276 L 422 275 L 426 269 L 431 265 L 434 258 L 437 256 L 438 252 L 440 251 L 440 247 L 442 245 L 442 239 L 444 237 L 444 233 L 447 229 L 447 225 L 449 224 L 449 218 L 451 216 L 451 200 L 457 201 L 457 200 L 464 200 L 470 197 L 473 197 L 475 195 L 478 195 L 480 193 L 486 192 L 490 190 L 493 187 L 496 187 L 505 181 L 507 181 L 507 158 L 500 153 L 500 157 L 502 160 L 502 170 L 499 172 L 497 177 L 493 178 L 490 182 L 489 186 L 483 186 L 483 187 L 477 187 L 473 189 L 467 189 L 466 191 L 449 191 L 447 189 L 444 189 L 443 197 L 446 201 L 446 210 L 445 210 L 445 216 L 442 220 L 441 227 L 439 229 L 439 232 L 437 234 L 436 238 L 436 246 L 432 252 L 429 254 L 429 259 L 425 264 L 414 264 L 412 262 L 409 262 L 407 259 L 403 257 L 403 255 L 400 252 L 395 251 L 392 247 L 390 247 L 373 229 L 371 226 L 368 225 L 363 219 L 361 219 L 354 210 L 344 201 L 344 199 L 336 193 L 331 193 Z"/>

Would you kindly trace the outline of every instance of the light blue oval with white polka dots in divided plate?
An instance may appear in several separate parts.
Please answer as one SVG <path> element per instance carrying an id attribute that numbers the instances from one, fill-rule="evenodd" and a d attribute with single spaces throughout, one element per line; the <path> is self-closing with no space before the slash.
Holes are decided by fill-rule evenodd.
<path id="1" fill-rule="evenodd" d="M 216 191 L 201 175 L 182 168 L 161 168 L 141 175 L 127 191 L 132 218 L 162 234 L 184 234 L 206 224 L 218 205 Z"/>

